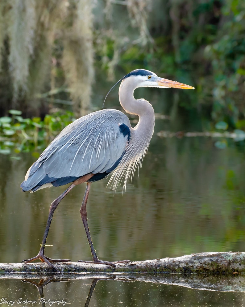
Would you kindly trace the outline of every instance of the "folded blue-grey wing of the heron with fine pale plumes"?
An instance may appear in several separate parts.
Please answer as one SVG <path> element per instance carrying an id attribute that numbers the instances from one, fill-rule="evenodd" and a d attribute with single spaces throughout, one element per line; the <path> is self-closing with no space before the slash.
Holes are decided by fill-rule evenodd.
<path id="1" fill-rule="evenodd" d="M 122 131 L 121 124 L 130 129 L 127 116 L 113 109 L 77 119 L 60 132 L 31 166 L 22 189 L 38 190 L 57 178 L 66 178 L 62 181 L 66 184 L 85 174 L 111 169 L 123 155 L 130 135 Z"/>

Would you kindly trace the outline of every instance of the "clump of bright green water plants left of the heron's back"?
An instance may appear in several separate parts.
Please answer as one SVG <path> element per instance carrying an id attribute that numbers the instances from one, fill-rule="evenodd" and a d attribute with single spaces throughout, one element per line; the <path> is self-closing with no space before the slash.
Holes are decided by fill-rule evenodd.
<path id="1" fill-rule="evenodd" d="M 47 114 L 43 120 L 40 117 L 23 118 L 19 110 L 10 110 L 9 114 L 0 117 L 0 154 L 43 149 L 75 120 L 72 112 Z M 34 152 L 34 156 L 39 154 Z"/>

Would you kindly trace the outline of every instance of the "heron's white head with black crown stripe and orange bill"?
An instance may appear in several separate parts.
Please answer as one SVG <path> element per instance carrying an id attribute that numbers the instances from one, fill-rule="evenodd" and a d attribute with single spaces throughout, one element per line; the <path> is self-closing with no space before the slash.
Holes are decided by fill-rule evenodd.
<path id="1" fill-rule="evenodd" d="M 134 88 L 138 87 L 162 87 L 162 88 L 176 87 L 182 89 L 195 88 L 193 86 L 189 86 L 184 83 L 179 83 L 176 81 L 160 78 L 154 72 L 145 69 L 133 70 L 125 77 L 123 77 L 121 80 L 122 81 L 127 80 L 127 83 L 132 83 Z"/>

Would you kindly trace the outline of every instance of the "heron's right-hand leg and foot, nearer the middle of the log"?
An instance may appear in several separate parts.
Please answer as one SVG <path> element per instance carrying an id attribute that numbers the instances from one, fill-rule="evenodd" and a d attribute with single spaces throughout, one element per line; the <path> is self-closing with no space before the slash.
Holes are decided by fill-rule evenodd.
<path id="1" fill-rule="evenodd" d="M 91 187 L 91 182 L 87 182 L 87 187 L 86 187 L 86 190 L 85 190 L 83 202 L 82 202 L 82 205 L 81 205 L 81 208 L 80 208 L 80 214 L 81 214 L 82 222 L 83 222 L 83 225 L 84 225 L 84 228 L 85 228 L 85 232 L 86 232 L 86 235 L 87 235 L 87 238 L 88 238 L 88 241 L 89 241 L 89 247 L 90 247 L 90 250 L 91 250 L 93 261 L 82 261 L 82 260 L 79 260 L 79 262 L 93 262 L 93 263 L 98 263 L 98 264 L 108 264 L 108 265 L 114 266 L 114 267 L 115 267 L 115 263 L 124 263 L 124 262 L 128 263 L 128 262 L 131 262 L 129 260 L 108 262 L 108 261 L 99 260 L 99 258 L 97 257 L 97 254 L 96 254 L 95 249 L 93 247 L 93 242 L 92 242 L 92 238 L 90 236 L 89 226 L 88 226 L 88 221 L 87 221 L 86 205 L 87 205 L 87 200 L 88 200 L 88 197 L 89 197 L 90 187 Z"/>

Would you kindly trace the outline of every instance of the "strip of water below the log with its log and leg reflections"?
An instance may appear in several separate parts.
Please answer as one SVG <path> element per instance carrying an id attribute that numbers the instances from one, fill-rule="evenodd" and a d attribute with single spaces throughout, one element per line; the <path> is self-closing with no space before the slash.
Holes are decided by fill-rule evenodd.
<path id="1" fill-rule="evenodd" d="M 133 280 L 137 279 L 137 275 L 124 277 L 118 279 L 118 276 L 115 276 L 115 280 L 111 281 L 98 276 L 91 282 L 91 279 L 85 279 L 88 278 L 85 274 L 83 277 L 77 274 L 73 276 L 75 279 L 71 280 L 64 275 L 57 275 L 40 281 L 25 279 L 24 284 L 18 279 L 0 279 L 0 297 L 15 302 L 13 306 L 18 305 L 20 298 L 22 301 L 37 302 L 25 304 L 27 307 L 38 305 L 48 307 L 51 304 L 58 306 L 58 302 L 59 306 L 73 307 L 243 306 L 245 298 L 245 292 L 234 292 L 235 288 L 229 286 L 237 284 L 237 289 L 241 287 L 243 288 L 241 291 L 244 291 L 243 276 L 199 275 L 198 277 L 198 275 L 161 274 L 158 276 L 158 282 L 155 274 L 151 276 L 141 274 L 141 282 Z M 143 282 L 144 279 L 149 282 Z M 131 281 L 125 283 L 127 280 Z M 197 288 L 206 287 L 208 282 L 220 284 L 225 292 L 209 291 L 208 287 L 206 290 L 197 290 L 193 288 L 193 281 Z M 181 287 L 182 284 L 185 286 Z M 38 289 L 39 298 L 35 288 Z M 52 303 L 53 301 L 56 302 Z"/>

